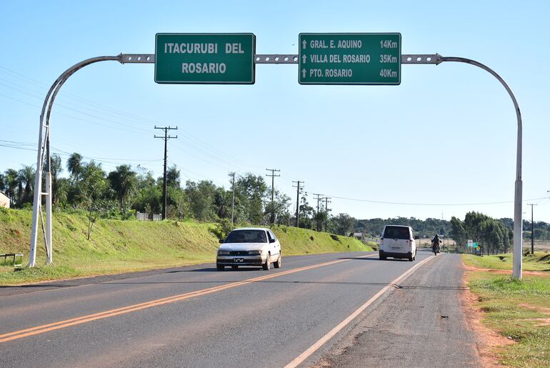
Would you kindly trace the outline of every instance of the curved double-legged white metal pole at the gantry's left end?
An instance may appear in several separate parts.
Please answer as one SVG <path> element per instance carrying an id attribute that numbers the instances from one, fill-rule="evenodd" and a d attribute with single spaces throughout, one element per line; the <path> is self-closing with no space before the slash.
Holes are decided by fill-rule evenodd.
<path id="1" fill-rule="evenodd" d="M 41 206 L 41 196 L 42 196 L 42 164 L 44 162 L 44 146 L 49 147 L 49 116 L 51 114 L 51 107 L 54 103 L 55 96 L 59 92 L 59 89 L 63 84 L 65 83 L 66 79 L 69 78 L 74 72 L 78 71 L 79 69 L 84 68 L 84 66 L 97 63 L 99 61 L 119 61 L 121 64 L 123 64 L 123 58 L 122 54 L 119 54 L 118 56 L 98 56 L 91 59 L 86 59 L 84 61 L 79 62 L 78 64 L 74 64 L 69 69 L 64 71 L 63 74 L 61 74 L 56 81 L 54 81 L 54 84 L 51 85 L 48 93 L 46 94 L 46 99 L 44 99 L 44 104 L 42 105 L 42 111 L 40 114 L 40 125 L 39 125 L 39 142 L 38 142 L 38 154 L 36 157 L 36 176 L 34 178 L 34 202 L 33 202 L 33 209 L 32 209 L 32 227 L 31 227 L 31 249 L 29 253 L 29 265 L 28 267 L 34 267 L 36 264 L 36 237 L 38 234 L 38 220 L 39 220 L 39 206 Z M 55 89 L 55 92 L 54 92 Z M 52 92 L 54 94 L 52 95 Z M 43 128 L 44 128 L 44 113 L 46 112 L 46 106 L 49 104 L 48 112 L 47 112 L 47 119 L 46 119 L 46 136 L 44 139 L 46 140 L 46 144 L 42 146 L 43 143 Z M 49 166 L 49 149 L 48 149 L 48 166 Z M 49 171 L 49 167 L 47 167 L 47 178 L 46 178 L 46 247 L 49 247 L 49 263 L 51 262 L 51 173 Z"/>

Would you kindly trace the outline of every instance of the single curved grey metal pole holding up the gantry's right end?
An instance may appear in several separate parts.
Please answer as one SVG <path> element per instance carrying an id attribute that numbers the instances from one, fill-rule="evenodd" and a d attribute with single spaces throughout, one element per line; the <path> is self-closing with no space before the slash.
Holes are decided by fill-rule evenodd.
<path id="1" fill-rule="evenodd" d="M 512 269 L 512 276 L 516 279 L 521 279 L 521 267 L 522 267 L 522 250 L 523 250 L 523 221 L 521 219 L 521 204 L 523 200 L 523 183 L 521 181 L 521 142 L 522 142 L 522 126 L 521 126 L 521 111 L 519 111 L 519 105 L 518 101 L 516 100 L 516 96 L 512 93 L 510 87 L 504 79 L 499 76 L 499 74 L 496 74 L 496 71 L 489 68 L 489 66 L 486 66 L 484 64 L 481 64 L 475 60 L 466 59 L 464 57 L 456 57 L 456 56 L 441 56 L 436 55 L 436 64 L 440 64 L 444 61 L 456 61 L 459 63 L 466 63 L 471 64 L 474 66 L 478 66 L 481 69 L 484 69 L 485 71 L 489 71 L 492 76 L 494 76 L 496 79 L 501 82 L 501 84 L 504 86 L 508 94 L 510 95 L 510 98 L 512 99 L 512 102 L 514 102 L 514 109 L 516 109 L 516 118 L 518 121 L 518 136 L 517 136 L 517 148 L 516 148 L 516 184 L 515 184 L 515 191 L 514 191 L 514 257 L 513 257 L 513 263 L 514 267 Z"/>

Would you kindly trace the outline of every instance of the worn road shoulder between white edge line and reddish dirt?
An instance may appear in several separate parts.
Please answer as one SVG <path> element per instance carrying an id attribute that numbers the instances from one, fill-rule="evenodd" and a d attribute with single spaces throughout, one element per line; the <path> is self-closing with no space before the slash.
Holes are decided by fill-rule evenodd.
<path id="1" fill-rule="evenodd" d="M 391 262 L 391 261 L 388 261 Z M 318 367 L 479 367 L 461 259 L 441 254 L 374 305 Z"/>

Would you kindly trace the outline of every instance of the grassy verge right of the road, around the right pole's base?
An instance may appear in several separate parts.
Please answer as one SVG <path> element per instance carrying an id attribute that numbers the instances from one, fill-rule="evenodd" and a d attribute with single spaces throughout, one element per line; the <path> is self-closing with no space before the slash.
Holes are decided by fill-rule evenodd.
<path id="1" fill-rule="evenodd" d="M 513 339 L 496 349 L 499 364 L 511 367 L 550 367 L 550 254 L 524 257 L 521 281 L 511 279 L 511 254 L 475 257 L 464 262 L 476 267 L 467 280 L 483 314 L 482 322 L 503 337 Z M 487 270 L 481 270 L 487 269 Z M 493 271 L 489 271 L 493 270 Z"/>

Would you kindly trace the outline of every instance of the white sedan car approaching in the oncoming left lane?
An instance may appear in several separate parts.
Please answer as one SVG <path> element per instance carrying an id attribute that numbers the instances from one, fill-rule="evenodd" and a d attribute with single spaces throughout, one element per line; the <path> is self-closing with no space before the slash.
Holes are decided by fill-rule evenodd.
<path id="1" fill-rule="evenodd" d="M 229 233 L 218 249 L 216 268 L 221 271 L 226 266 L 233 269 L 239 266 L 258 266 L 270 269 L 281 267 L 281 244 L 270 229 L 244 228 Z"/>

